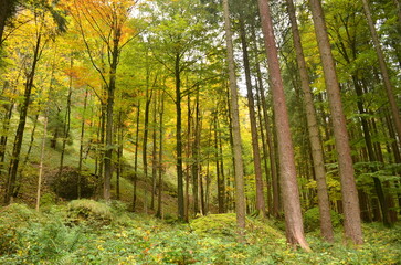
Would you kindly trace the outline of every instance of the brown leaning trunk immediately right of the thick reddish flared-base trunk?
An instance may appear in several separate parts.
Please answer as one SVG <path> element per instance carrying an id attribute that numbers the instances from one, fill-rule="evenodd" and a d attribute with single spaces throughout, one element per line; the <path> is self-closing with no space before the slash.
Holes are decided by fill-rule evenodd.
<path id="1" fill-rule="evenodd" d="M 320 215 L 320 231 L 325 240 L 333 242 L 333 224 L 330 216 L 330 202 L 327 192 L 325 159 L 321 149 L 321 140 L 317 124 L 316 109 L 313 102 L 313 95 L 309 86 L 309 76 L 306 67 L 304 51 L 300 43 L 300 34 L 296 21 L 295 7 L 293 0 L 287 0 L 288 14 L 293 31 L 294 46 L 296 51 L 296 60 L 300 76 L 300 85 L 303 89 L 304 106 L 306 110 L 306 121 L 308 125 L 309 141 L 312 148 L 312 157 L 314 162 L 314 172 L 317 182 L 317 197 Z"/>

